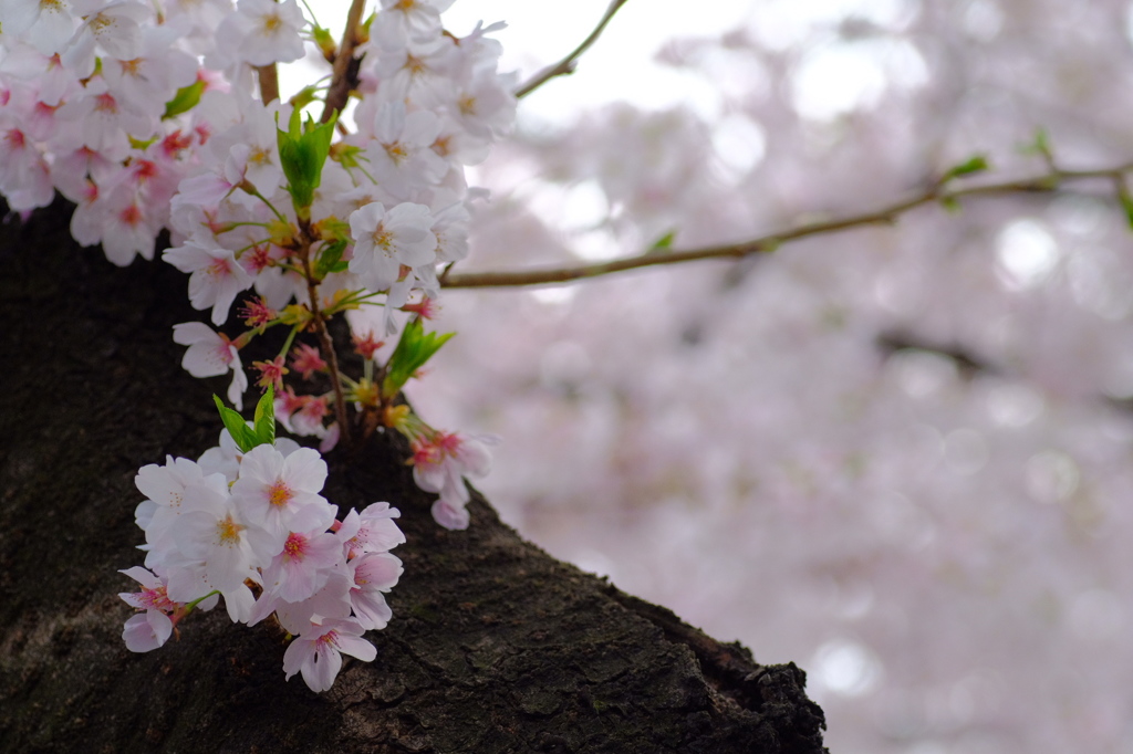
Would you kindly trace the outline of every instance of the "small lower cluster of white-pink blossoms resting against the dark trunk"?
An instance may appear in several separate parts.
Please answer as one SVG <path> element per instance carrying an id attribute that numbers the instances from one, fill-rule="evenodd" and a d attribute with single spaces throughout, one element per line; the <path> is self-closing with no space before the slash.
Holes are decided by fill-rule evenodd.
<path id="1" fill-rule="evenodd" d="M 283 670 L 303 672 L 313 691 L 331 687 L 342 652 L 373 660 L 361 635 L 392 616 L 383 593 L 401 560 L 390 550 L 406 539 L 386 503 L 339 520 L 320 495 L 325 479 L 317 451 L 279 439 L 242 453 L 227 429 L 196 462 L 143 466 L 135 483 L 147 499 L 135 516 L 145 567 L 122 572 L 142 591 L 121 598 L 144 612 L 126 622 L 126 645 L 156 649 L 195 607 L 223 598 L 233 622 L 274 616 L 295 636 Z"/>

